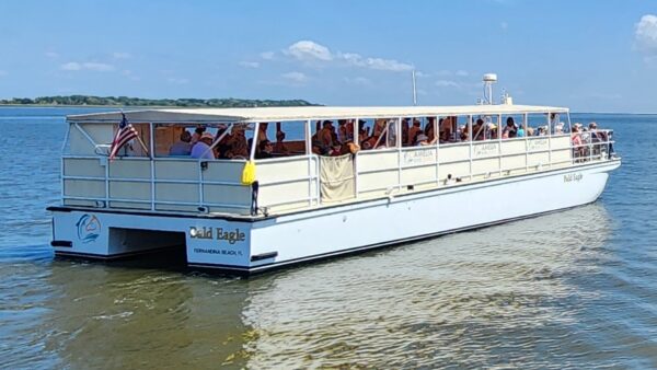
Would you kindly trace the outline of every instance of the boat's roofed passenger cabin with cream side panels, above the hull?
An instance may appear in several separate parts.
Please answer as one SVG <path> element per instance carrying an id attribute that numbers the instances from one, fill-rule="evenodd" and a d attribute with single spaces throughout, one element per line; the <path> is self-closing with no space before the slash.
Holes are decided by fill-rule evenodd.
<path id="1" fill-rule="evenodd" d="M 603 130 L 597 141 L 575 140 L 568 109 L 548 106 L 149 109 L 125 118 L 136 136 L 120 148 L 112 143 L 122 113 L 67 118 L 64 206 L 252 219 L 602 161 L 612 142 Z M 246 167 L 252 181 L 243 181 Z"/>

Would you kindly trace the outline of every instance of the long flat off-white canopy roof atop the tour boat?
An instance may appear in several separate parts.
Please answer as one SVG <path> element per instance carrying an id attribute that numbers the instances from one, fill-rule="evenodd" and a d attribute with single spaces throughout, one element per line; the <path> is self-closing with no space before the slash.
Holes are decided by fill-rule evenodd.
<path id="1" fill-rule="evenodd" d="M 262 108 L 164 108 L 125 112 L 131 123 L 211 123 L 211 122 L 285 122 L 306 119 L 353 119 L 391 117 L 430 117 L 457 115 L 495 115 L 522 113 L 567 113 L 568 108 L 533 105 L 459 105 L 459 106 L 293 106 Z M 120 122 L 120 112 L 68 116 L 76 122 Z"/>

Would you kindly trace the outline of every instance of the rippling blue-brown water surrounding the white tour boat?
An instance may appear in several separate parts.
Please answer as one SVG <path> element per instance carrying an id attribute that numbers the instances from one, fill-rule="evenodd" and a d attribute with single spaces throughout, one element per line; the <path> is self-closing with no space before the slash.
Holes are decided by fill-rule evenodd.
<path id="1" fill-rule="evenodd" d="M 573 116 L 624 159 L 593 205 L 237 279 L 53 258 L 89 111 L 0 108 L 0 367 L 657 368 L 657 116 Z"/>

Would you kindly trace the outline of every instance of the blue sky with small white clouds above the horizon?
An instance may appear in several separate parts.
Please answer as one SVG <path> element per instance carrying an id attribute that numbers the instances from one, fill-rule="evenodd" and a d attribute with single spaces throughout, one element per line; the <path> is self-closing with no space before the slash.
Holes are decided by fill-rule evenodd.
<path id="1" fill-rule="evenodd" d="M 657 113 L 656 0 L 0 2 L 0 99 L 496 100 Z"/>

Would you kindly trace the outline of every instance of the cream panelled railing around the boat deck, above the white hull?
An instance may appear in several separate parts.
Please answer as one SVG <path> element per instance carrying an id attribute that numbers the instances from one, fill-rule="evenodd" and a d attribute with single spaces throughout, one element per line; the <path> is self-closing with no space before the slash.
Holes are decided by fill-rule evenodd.
<path id="1" fill-rule="evenodd" d="M 613 142 L 610 130 L 596 130 L 584 136 L 580 144 L 563 134 L 361 150 L 349 157 L 353 195 L 345 201 L 604 161 L 613 152 Z M 62 157 L 65 205 L 253 213 L 254 189 L 241 183 L 244 160 L 124 157 L 110 161 L 90 148 Z M 256 160 L 256 169 L 261 213 L 334 204 L 322 194 L 321 158 L 315 154 Z"/>

